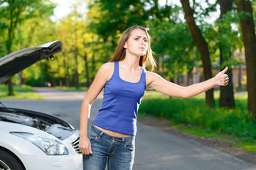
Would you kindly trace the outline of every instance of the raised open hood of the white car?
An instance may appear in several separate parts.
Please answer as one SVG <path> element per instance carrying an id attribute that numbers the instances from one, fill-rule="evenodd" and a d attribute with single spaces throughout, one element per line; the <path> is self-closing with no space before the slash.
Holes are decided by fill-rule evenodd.
<path id="1" fill-rule="evenodd" d="M 61 52 L 62 43 L 59 40 L 46 44 L 28 47 L 0 58 L 0 84 L 11 79 L 11 77 L 21 72 L 32 64 L 53 57 L 57 52 Z"/>

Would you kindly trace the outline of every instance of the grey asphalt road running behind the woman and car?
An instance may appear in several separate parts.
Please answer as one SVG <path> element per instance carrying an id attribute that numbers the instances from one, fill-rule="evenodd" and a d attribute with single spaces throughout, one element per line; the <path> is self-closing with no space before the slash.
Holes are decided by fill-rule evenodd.
<path id="1" fill-rule="evenodd" d="M 79 128 L 80 105 L 85 92 L 36 89 L 45 100 L 1 99 L 7 107 L 18 107 L 57 115 Z M 102 94 L 93 103 L 90 123 L 102 104 Z M 134 170 L 256 170 L 256 166 L 183 137 L 137 123 Z"/>

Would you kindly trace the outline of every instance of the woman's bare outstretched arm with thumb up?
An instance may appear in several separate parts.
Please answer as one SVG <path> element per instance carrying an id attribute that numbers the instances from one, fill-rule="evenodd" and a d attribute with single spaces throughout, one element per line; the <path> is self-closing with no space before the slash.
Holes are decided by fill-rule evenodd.
<path id="1" fill-rule="evenodd" d="M 178 86 L 177 84 L 166 81 L 158 74 L 153 72 L 146 72 L 146 88 L 159 91 L 161 94 L 165 94 L 173 97 L 190 98 L 198 94 L 208 91 L 208 89 L 214 86 L 226 86 L 228 85 L 228 67 L 225 67 L 222 72 L 219 72 L 215 77 L 203 81 L 198 84 L 192 84 L 191 86 Z"/>

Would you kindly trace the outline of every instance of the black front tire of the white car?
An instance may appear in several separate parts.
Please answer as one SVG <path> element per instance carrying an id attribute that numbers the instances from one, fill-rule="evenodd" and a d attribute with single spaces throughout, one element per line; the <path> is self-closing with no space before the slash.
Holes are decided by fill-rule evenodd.
<path id="1" fill-rule="evenodd" d="M 0 169 L 4 170 L 25 170 L 23 165 L 9 152 L 0 149 Z"/>

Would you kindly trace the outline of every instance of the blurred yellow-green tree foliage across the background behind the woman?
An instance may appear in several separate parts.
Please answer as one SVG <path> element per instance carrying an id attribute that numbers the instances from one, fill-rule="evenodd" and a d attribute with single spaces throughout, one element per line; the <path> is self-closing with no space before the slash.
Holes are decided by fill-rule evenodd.
<path id="1" fill-rule="evenodd" d="M 160 5 L 159 1 L 151 0 L 90 0 L 84 12 L 80 8 L 85 1 L 77 0 L 70 6 L 70 13 L 59 21 L 50 19 L 55 8 L 50 0 L 10 2 L 0 2 L 0 43 L 3 44 L 0 57 L 7 54 L 10 43 L 11 51 L 16 51 L 53 40 L 63 42 L 63 52 L 55 55 L 55 61 L 41 61 L 22 72 L 23 84 L 42 86 L 43 82 L 50 81 L 53 86 L 89 85 L 97 69 L 112 58 L 123 31 L 134 25 L 149 30 L 154 57 L 159 63 L 156 72 L 165 79 L 174 79 L 185 72 L 190 74 L 195 65 L 201 67 L 198 47 L 181 18 L 183 9 L 173 1 Z M 192 5 L 213 64 L 219 60 L 219 45 L 231 51 L 242 47 L 238 13 L 233 9 L 223 19 L 216 20 L 213 13 L 217 11 L 217 4 L 217 1 L 213 4 L 205 1 L 204 5 L 193 1 Z M 11 9 L 15 11 L 12 14 Z M 16 23 L 11 33 L 12 42 L 7 36 L 11 19 Z M 223 55 L 227 56 L 228 52 Z M 240 62 L 234 55 L 224 64 L 235 66 Z"/>

